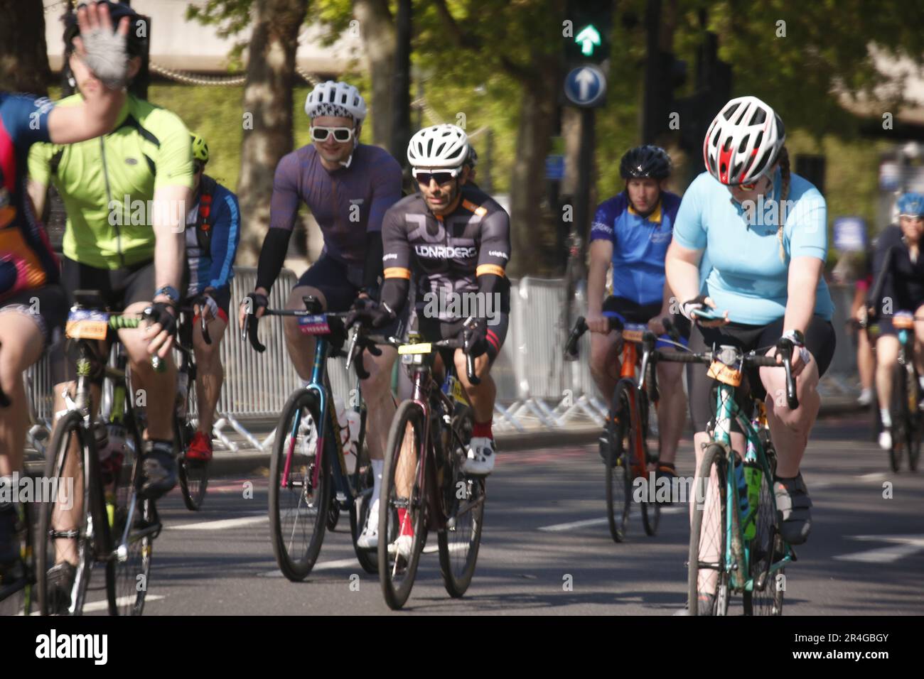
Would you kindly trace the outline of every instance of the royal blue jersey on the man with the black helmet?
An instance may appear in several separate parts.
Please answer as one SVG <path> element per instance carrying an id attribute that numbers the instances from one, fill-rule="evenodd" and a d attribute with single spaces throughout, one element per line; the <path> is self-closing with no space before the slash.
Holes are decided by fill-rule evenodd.
<path id="1" fill-rule="evenodd" d="M 642 217 L 632 209 L 623 191 L 597 208 L 590 225 L 590 241 L 613 243 L 615 297 L 640 305 L 663 299 L 664 258 L 679 207 L 680 197 L 664 191 L 654 212 Z"/>

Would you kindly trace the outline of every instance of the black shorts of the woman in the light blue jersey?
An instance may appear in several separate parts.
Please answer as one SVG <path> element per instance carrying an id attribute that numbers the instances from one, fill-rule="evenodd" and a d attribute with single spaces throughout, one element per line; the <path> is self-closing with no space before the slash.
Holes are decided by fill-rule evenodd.
<path id="1" fill-rule="evenodd" d="M 744 351 L 751 351 L 761 347 L 769 349 L 783 335 L 784 319 L 773 321 L 767 325 L 745 325 L 743 323 L 729 323 L 721 328 L 703 328 L 695 325 L 690 333 L 690 351 L 700 353 L 711 349 L 712 346 L 737 346 Z M 813 316 L 808 323 L 806 331 L 806 348 L 818 362 L 818 375 L 824 374 L 831 365 L 834 356 L 836 338 L 831 321 L 825 321 L 820 316 Z M 746 380 L 742 381 L 741 389 L 747 389 L 757 398 L 763 398 L 767 392 L 760 382 L 760 369 L 746 370 Z M 782 368 L 780 369 L 782 370 Z M 693 421 L 694 431 L 705 431 L 706 425 L 715 415 L 715 398 L 712 396 L 712 387 L 717 384 L 706 374 L 706 366 L 699 363 L 687 365 L 687 385 L 689 389 L 690 419 Z"/>

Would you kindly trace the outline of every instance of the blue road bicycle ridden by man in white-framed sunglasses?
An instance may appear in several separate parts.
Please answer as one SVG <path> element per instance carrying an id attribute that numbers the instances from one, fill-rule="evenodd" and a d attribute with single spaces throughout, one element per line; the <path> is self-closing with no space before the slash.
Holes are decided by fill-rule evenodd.
<path id="1" fill-rule="evenodd" d="M 359 412 L 359 439 L 355 469 L 346 467 L 341 430 L 346 422 L 337 419 L 334 393 L 327 375 L 327 358 L 347 356 L 344 321 L 348 312 L 324 313 L 315 297 L 303 297 L 305 309 L 265 309 L 267 316 L 294 316 L 302 333 L 315 338 L 310 382 L 293 392 L 283 406 L 276 425 L 270 460 L 270 537 L 279 569 L 298 582 L 311 572 L 321 553 L 327 528 L 333 530 L 341 510 L 349 512 L 350 533 L 359 564 L 367 573 L 377 572 L 375 554 L 359 549 L 356 541 L 366 525 L 372 494 L 372 468 L 364 442 L 366 406 L 356 383 L 354 408 Z M 243 333 L 258 352 L 258 319 L 247 314 Z M 359 342 L 367 346 L 359 328 L 351 337 L 350 349 Z M 358 378 L 365 377 L 357 365 Z"/>

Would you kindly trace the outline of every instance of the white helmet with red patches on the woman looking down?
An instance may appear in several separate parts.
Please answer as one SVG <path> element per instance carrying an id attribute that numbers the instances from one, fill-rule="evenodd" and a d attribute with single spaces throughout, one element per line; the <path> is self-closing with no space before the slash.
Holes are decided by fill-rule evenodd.
<path id="1" fill-rule="evenodd" d="M 753 184 L 776 162 L 785 140 L 783 120 L 770 106 L 757 97 L 737 97 L 712 120 L 702 158 L 723 184 Z"/>

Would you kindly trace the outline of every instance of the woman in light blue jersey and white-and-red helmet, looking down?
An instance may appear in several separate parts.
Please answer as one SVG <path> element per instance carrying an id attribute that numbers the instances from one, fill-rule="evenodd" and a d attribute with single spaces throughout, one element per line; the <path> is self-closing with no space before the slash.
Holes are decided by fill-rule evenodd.
<path id="1" fill-rule="evenodd" d="M 831 362 L 835 338 L 833 303 L 821 277 L 827 208 L 817 188 L 790 172 L 784 141 L 783 120 L 757 97 L 738 97 L 723 106 L 703 142 L 707 172 L 690 184 L 677 211 L 666 273 L 691 321 L 694 310 L 723 310 L 722 318 L 696 321 L 690 333 L 693 351 L 723 344 L 748 351 L 772 347 L 781 337 L 798 348 L 792 358 L 796 410 L 780 398 L 783 370 L 762 368 L 748 382 L 753 393 L 766 393 L 783 537 L 801 544 L 811 529 L 811 501 L 799 464 L 821 406 L 816 386 Z M 704 255 L 710 269 L 700 280 Z M 689 370 L 687 384 L 699 468 L 714 400 L 705 370 Z M 742 455 L 739 432 L 732 443 Z M 713 593 L 703 596 L 709 600 Z"/>

